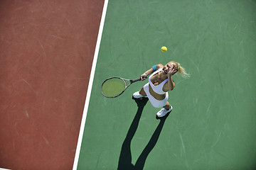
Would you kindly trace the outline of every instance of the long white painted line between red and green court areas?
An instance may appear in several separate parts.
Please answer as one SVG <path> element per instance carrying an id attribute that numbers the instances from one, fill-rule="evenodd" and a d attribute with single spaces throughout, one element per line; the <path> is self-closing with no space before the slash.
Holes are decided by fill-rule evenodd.
<path id="1" fill-rule="evenodd" d="M 103 10 L 102 10 L 102 18 L 101 18 L 101 21 L 100 21 L 99 33 L 98 33 L 98 36 L 97 36 L 97 43 L 96 43 L 96 47 L 95 47 L 95 55 L 93 57 L 93 62 L 92 62 L 92 70 L 90 72 L 90 80 L 89 80 L 87 95 L 86 95 L 86 99 L 85 99 L 85 107 L 84 107 L 84 111 L 82 113 L 82 121 L 81 121 L 81 125 L 80 125 L 79 136 L 78 136 L 78 145 L 77 145 L 77 149 L 76 149 L 76 152 L 75 152 L 73 170 L 76 170 L 78 168 L 78 159 L 79 159 L 80 149 L 81 149 L 81 145 L 82 145 L 82 136 L 83 136 L 83 132 L 85 130 L 85 120 L 86 120 L 88 106 L 89 106 L 89 102 L 90 102 L 90 94 L 91 94 L 91 91 L 92 91 L 92 83 L 93 83 L 93 79 L 94 79 L 94 75 L 95 75 L 95 67 L 96 67 L 96 64 L 97 64 L 97 57 L 98 57 L 99 50 L 100 50 L 100 41 L 101 41 L 101 38 L 102 38 L 102 31 L 103 31 L 103 26 L 104 26 L 104 23 L 105 23 L 105 16 L 106 16 L 106 13 L 107 13 L 107 4 L 108 4 L 108 0 L 105 0 Z"/>

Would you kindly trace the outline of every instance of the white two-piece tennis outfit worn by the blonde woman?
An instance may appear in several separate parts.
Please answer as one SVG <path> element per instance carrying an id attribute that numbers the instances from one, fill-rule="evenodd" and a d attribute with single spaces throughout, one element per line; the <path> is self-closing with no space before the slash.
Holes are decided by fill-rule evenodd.
<path id="1" fill-rule="evenodd" d="M 146 96 L 149 98 L 150 103 L 152 104 L 152 106 L 154 106 L 155 108 L 162 108 L 164 106 L 166 106 L 166 102 L 168 100 L 168 92 L 163 91 L 163 87 L 164 84 L 166 84 L 166 82 L 168 81 L 168 79 L 165 79 L 163 82 L 161 82 L 161 84 L 158 85 L 154 85 L 151 82 L 151 77 L 154 76 L 155 74 L 161 72 L 162 69 L 158 69 L 156 70 L 156 72 L 154 72 L 153 74 L 151 74 L 151 76 L 149 77 L 149 83 L 145 84 L 143 89 L 146 92 Z M 151 88 L 153 89 L 154 92 L 156 92 L 156 94 L 166 94 L 166 97 L 159 101 L 156 98 L 154 98 L 154 96 L 152 96 L 149 92 L 149 86 L 151 86 Z"/>

